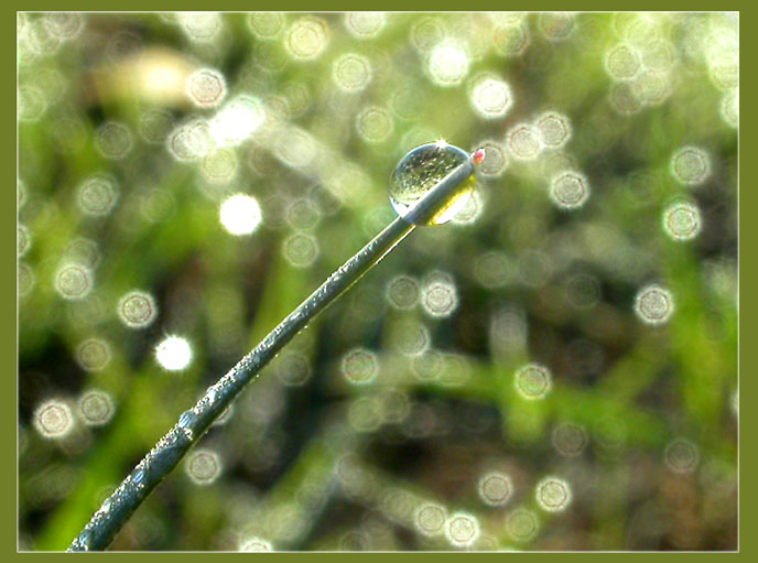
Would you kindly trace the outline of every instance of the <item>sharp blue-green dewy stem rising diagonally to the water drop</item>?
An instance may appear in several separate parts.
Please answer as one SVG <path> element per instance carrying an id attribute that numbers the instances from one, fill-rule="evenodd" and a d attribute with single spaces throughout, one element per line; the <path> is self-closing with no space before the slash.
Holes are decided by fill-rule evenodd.
<path id="1" fill-rule="evenodd" d="M 247 356 L 224 377 L 210 386 L 191 410 L 178 418 L 155 446 L 93 515 L 67 551 L 105 550 L 131 513 L 142 504 L 158 484 L 176 467 L 187 451 L 208 430 L 213 422 L 239 396 L 245 386 L 256 379 L 261 369 L 307 323 L 329 303 L 342 295 L 373 264 L 387 256 L 414 228 L 416 219 L 425 220 L 434 209 L 443 206 L 455 187 L 474 172 L 474 163 L 465 162 L 453 170 L 434 188 L 420 199 L 405 218 L 398 217 L 368 245 L 327 278 L 303 303 L 282 321 Z M 420 220 L 419 223 L 423 223 Z"/>

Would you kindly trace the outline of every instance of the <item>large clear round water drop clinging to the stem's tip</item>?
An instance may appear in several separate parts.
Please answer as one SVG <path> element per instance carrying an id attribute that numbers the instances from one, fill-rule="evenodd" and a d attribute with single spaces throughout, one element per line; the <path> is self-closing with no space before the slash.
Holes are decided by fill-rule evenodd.
<path id="1" fill-rule="evenodd" d="M 478 153 L 477 153 L 478 154 Z M 484 158 L 484 156 L 483 156 Z M 481 162 L 481 159 L 478 159 Z M 444 141 L 426 143 L 411 150 L 398 164 L 390 177 L 390 203 L 401 217 L 416 225 L 442 225 L 450 221 L 463 209 L 472 197 L 476 185 L 473 164 L 477 163 L 463 149 Z M 413 212 L 445 177 L 462 166 L 468 165 L 470 174 L 447 190 L 446 195 L 424 213 L 422 223 L 414 220 Z"/>

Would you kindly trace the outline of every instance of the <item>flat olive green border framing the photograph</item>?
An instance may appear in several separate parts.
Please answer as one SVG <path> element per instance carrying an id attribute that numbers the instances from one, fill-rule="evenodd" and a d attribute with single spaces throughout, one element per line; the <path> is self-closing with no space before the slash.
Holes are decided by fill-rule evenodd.
<path id="1" fill-rule="evenodd" d="M 481 0 L 476 3 L 462 3 L 462 2 L 412 2 L 412 6 L 409 6 L 407 2 L 398 2 L 398 1 L 392 1 L 392 2 L 370 2 L 372 8 L 375 10 L 385 10 L 385 11 L 404 11 L 404 10 L 412 10 L 412 11 L 455 11 L 455 10 L 534 10 L 534 9 L 542 9 L 542 10 L 565 10 L 565 9 L 574 9 L 574 10 L 598 10 L 598 11 L 606 11 L 609 9 L 618 9 L 616 6 L 608 4 L 607 2 L 578 2 L 574 6 L 568 4 L 567 2 L 539 2 L 539 6 L 534 6 L 532 2 L 502 2 L 501 0 Z M 745 6 L 745 9 L 741 10 L 741 4 Z M 2 46 L 3 51 L 6 53 L 6 56 L 2 57 L 2 64 L 6 66 L 6 74 L 4 76 L 7 77 L 15 77 L 15 11 L 17 10 L 95 10 L 99 11 L 102 10 L 104 8 L 118 8 L 115 4 L 104 4 L 102 2 L 93 2 L 93 1 L 87 1 L 87 2 L 73 2 L 73 6 L 62 6 L 59 2 L 29 2 L 29 3 L 20 3 L 17 7 L 13 8 L 4 8 L 3 9 L 3 17 L 2 18 L 2 33 L 0 34 L 0 41 L 2 41 Z M 126 3 L 122 4 L 126 7 Z M 190 1 L 190 2 L 160 2 L 159 4 L 151 3 L 151 2 L 129 2 L 129 10 L 156 10 L 156 9 L 174 9 L 174 10 L 204 10 L 210 8 L 207 2 L 198 2 L 196 0 Z M 285 2 L 277 2 L 275 6 L 266 6 L 259 2 L 223 2 L 220 6 L 213 6 L 214 9 L 225 9 L 225 10 L 255 10 L 255 9 L 275 9 L 275 10 L 297 10 L 297 11 L 340 11 L 340 10 L 349 10 L 349 9 L 366 9 L 366 6 L 360 2 L 293 2 L 291 0 L 288 0 Z M 630 7 L 630 9 L 635 10 L 686 10 L 686 11 L 692 11 L 692 10 L 739 10 L 740 11 L 740 23 L 745 23 L 745 25 L 741 25 L 745 30 L 747 30 L 747 33 L 743 35 L 743 50 L 747 53 L 755 53 L 756 52 L 756 40 L 755 40 L 755 33 L 751 33 L 751 22 L 755 23 L 756 20 L 754 20 L 754 15 L 756 13 L 755 9 L 751 9 L 748 7 L 748 3 L 743 1 L 739 2 L 728 2 L 728 6 L 725 4 L 717 4 L 716 2 L 684 2 L 684 1 L 675 1 L 675 2 L 667 2 L 665 6 L 661 6 L 659 2 L 638 2 L 637 6 Z M 747 18 L 747 19 L 746 19 Z M 747 68 L 749 69 L 751 65 L 748 63 Z M 747 83 L 747 90 L 748 91 L 755 91 L 752 90 L 754 83 L 756 78 L 751 73 L 746 73 L 746 76 L 743 77 L 743 84 L 745 85 Z M 0 242 L 2 243 L 2 255 L 3 257 L 7 257 L 8 262 L 7 268 L 2 269 L 2 275 L 1 281 L 2 281 L 2 292 L 0 295 L 2 295 L 2 300 L 4 305 L 2 306 L 2 311 L 4 312 L 3 317 L 7 320 L 6 323 L 2 324 L 2 332 L 4 338 L 1 339 L 1 342 L 4 342 L 6 344 L 3 345 L 3 348 L 6 349 L 6 353 L 3 354 L 3 357 L 6 358 L 6 362 L 8 364 L 8 369 L 4 369 L 3 372 L 6 373 L 6 377 L 2 378 L 2 385 L 6 388 L 6 392 L 2 393 L 2 400 L 6 404 L 6 408 L 0 409 L 0 414 L 2 415 L 2 420 L 8 420 L 8 423 L 1 423 L 0 422 L 0 430 L 2 432 L 3 436 L 3 443 L 8 444 L 8 451 L 12 451 L 14 454 L 17 452 L 15 450 L 15 442 L 17 442 L 17 420 L 15 420 L 15 413 L 17 413 L 17 303 L 15 303 L 15 234 L 14 234 L 14 226 L 15 226 L 15 195 L 14 195 L 14 187 L 15 186 L 15 156 L 17 156 L 17 138 L 15 138 L 15 90 L 13 88 L 13 82 L 7 80 L 8 87 L 3 88 L 3 131 L 6 131 L 6 134 L 3 136 L 3 151 L 0 152 L 2 154 L 3 160 L 6 161 L 6 164 L 3 166 L 3 170 L 7 171 L 7 188 L 0 191 L 0 195 L 2 196 L 2 205 L 0 205 L 0 212 L 7 216 L 4 220 L 0 220 L 0 225 L 2 226 L 2 231 L 6 234 L 2 237 L 0 237 Z M 744 107 L 744 119 L 743 122 L 748 123 L 747 131 L 752 131 L 751 126 L 749 124 L 750 122 L 754 121 L 754 107 L 752 107 L 752 95 L 748 94 L 745 96 L 745 99 L 748 100 L 748 104 L 745 105 Z M 748 142 L 751 144 L 752 141 L 752 136 L 751 134 L 746 134 L 744 137 L 740 137 L 740 149 L 741 149 L 741 142 Z M 741 152 L 741 151 L 740 151 Z M 749 149 L 745 154 L 750 154 Z M 749 181 L 749 177 L 751 177 L 754 173 L 754 166 L 750 165 L 750 159 L 747 159 L 744 162 L 740 162 L 740 164 L 746 164 L 745 167 L 740 167 L 740 178 L 741 178 L 741 185 L 748 186 L 747 190 L 741 191 L 740 190 L 740 198 L 739 198 L 739 207 L 740 210 L 748 209 L 748 214 L 740 214 L 740 217 L 747 217 L 749 219 L 750 217 L 750 212 L 754 209 L 758 209 L 758 206 L 756 205 L 756 198 L 758 197 L 756 195 L 756 187 L 755 184 L 752 184 Z M 747 181 L 745 181 L 748 178 Z M 747 305 L 747 314 L 746 315 L 740 315 L 740 318 L 755 318 L 755 301 L 756 301 L 756 295 L 750 291 L 750 288 L 754 286 L 754 283 L 756 282 L 756 267 L 755 267 L 755 257 L 756 252 L 752 248 L 752 241 L 756 240 L 757 237 L 757 226 L 758 221 L 740 221 L 740 249 L 747 249 L 747 252 L 741 253 L 740 256 L 740 263 L 739 263 L 739 279 L 740 279 L 740 286 L 746 286 L 748 288 L 748 291 L 745 293 L 741 293 L 743 296 L 745 296 L 745 300 L 740 300 L 740 305 L 743 305 L 743 310 L 745 310 L 745 305 Z M 740 336 L 744 334 L 747 334 L 747 338 L 743 339 L 740 338 L 741 342 L 747 342 L 750 343 L 751 338 L 750 335 L 754 334 L 754 325 L 752 323 L 741 323 L 740 322 Z M 744 333 L 744 331 L 747 331 L 747 333 Z M 749 358 L 754 357 L 756 355 L 756 348 L 751 346 L 747 347 L 741 347 L 740 346 L 740 367 L 743 365 L 747 366 L 752 366 L 754 361 L 750 361 Z M 12 358 L 12 359 L 11 359 Z M 747 358 L 747 361 L 744 361 L 745 358 Z M 755 358 L 754 358 L 755 359 Z M 740 394 L 744 398 L 748 398 L 747 400 L 751 400 L 752 397 L 756 397 L 755 393 L 755 388 L 756 388 L 756 378 L 752 373 L 751 369 L 748 369 L 746 372 L 746 377 L 744 381 L 740 378 L 740 387 L 745 386 L 746 389 L 744 389 Z M 741 370 L 740 370 L 741 375 Z M 749 404 L 749 403 L 748 403 Z M 745 412 L 745 416 L 747 418 L 747 421 L 744 423 L 741 427 L 746 429 L 752 429 L 755 427 L 755 418 L 756 418 L 756 412 L 751 411 L 748 409 L 748 411 Z M 748 533 L 743 535 L 740 534 L 740 542 L 739 542 L 739 554 L 737 556 L 741 556 L 744 554 L 749 554 L 752 553 L 755 554 L 758 552 L 756 549 L 756 535 L 755 533 L 749 533 L 750 530 L 754 530 L 754 526 L 756 526 L 756 518 L 755 516 L 755 489 L 756 489 L 756 484 L 755 479 L 750 478 L 750 476 L 756 475 L 756 456 L 757 454 L 751 447 L 751 442 L 748 442 L 748 446 L 745 448 L 740 448 L 740 474 L 748 476 L 746 479 L 740 480 L 740 530 L 747 530 Z M 13 456 L 15 459 L 15 455 Z M 17 556 L 17 557 L 40 557 L 40 556 L 46 556 L 45 554 L 17 554 L 15 553 L 15 546 L 17 546 L 17 522 L 18 522 L 18 511 L 17 511 L 17 506 L 15 506 L 15 500 L 17 500 L 17 487 L 15 487 L 15 476 L 17 476 L 17 465 L 13 463 L 12 465 L 9 464 L 7 466 L 3 466 L 1 469 L 2 474 L 2 480 L 3 483 L 3 488 L 7 490 L 7 495 L 4 495 L 6 502 L 3 502 L 3 518 L 2 518 L 2 526 L 0 526 L 0 533 L 2 534 L 2 542 L 0 545 L 2 546 L 2 552 L 6 552 L 10 555 Z M 12 499 L 12 501 L 10 501 Z M 119 556 L 118 554 L 112 554 L 115 556 Z M 127 554 L 124 554 L 127 555 Z M 273 554 L 273 556 L 277 557 L 317 557 L 320 560 L 332 560 L 333 556 L 338 555 L 338 554 Z M 442 556 L 447 559 L 450 556 L 456 556 L 456 555 L 465 555 L 465 554 L 443 554 Z M 472 554 L 473 556 L 481 556 L 481 557 L 501 557 L 501 556 L 530 556 L 530 557 L 550 557 L 553 554 Z M 574 561 L 580 561 L 580 557 L 584 559 L 587 555 L 595 555 L 595 556 L 605 556 L 604 554 L 580 554 L 580 553 L 573 553 L 573 554 L 561 554 L 560 556 L 563 557 L 571 557 Z M 652 557 L 669 557 L 669 556 L 674 556 L 679 557 L 685 554 L 646 554 L 650 555 Z M 733 554 L 711 554 L 706 555 L 703 554 L 701 556 L 718 556 L 718 557 L 724 557 L 724 556 L 732 556 Z M 109 556 L 109 555 L 96 555 L 96 556 Z M 128 555 L 127 555 L 128 556 Z M 169 553 L 169 554 L 147 554 L 149 557 L 154 557 L 154 556 L 162 556 L 162 557 L 170 557 L 170 559 L 178 559 L 178 557 L 195 557 L 195 556 L 203 556 L 202 554 L 185 554 L 185 553 Z M 238 556 L 245 556 L 239 554 Z M 344 554 L 343 556 L 353 556 L 350 554 Z M 413 557 L 414 560 L 418 560 L 418 557 L 423 557 L 425 561 L 436 561 L 440 554 L 433 554 L 433 553 L 421 553 L 421 554 L 415 554 L 415 553 L 400 553 L 400 554 L 366 554 L 364 555 L 369 559 L 375 559 L 376 557 Z M 622 555 L 625 556 L 625 555 Z M 635 556 L 634 554 L 629 554 L 626 556 Z"/>

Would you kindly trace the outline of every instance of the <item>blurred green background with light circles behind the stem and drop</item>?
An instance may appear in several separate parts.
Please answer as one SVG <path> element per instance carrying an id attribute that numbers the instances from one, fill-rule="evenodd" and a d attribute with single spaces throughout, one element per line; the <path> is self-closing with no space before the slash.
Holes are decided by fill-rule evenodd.
<path id="1" fill-rule="evenodd" d="M 20 13 L 19 549 L 64 550 L 441 139 L 487 150 L 469 205 L 112 549 L 737 549 L 738 25 Z"/>

